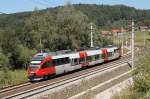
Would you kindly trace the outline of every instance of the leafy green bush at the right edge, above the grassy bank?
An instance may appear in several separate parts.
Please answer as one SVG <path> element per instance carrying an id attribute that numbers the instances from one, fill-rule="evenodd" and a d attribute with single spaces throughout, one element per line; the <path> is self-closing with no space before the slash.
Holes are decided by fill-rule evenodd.
<path id="1" fill-rule="evenodd" d="M 150 91 L 150 52 L 146 50 L 136 64 L 134 88 L 143 93 Z"/>

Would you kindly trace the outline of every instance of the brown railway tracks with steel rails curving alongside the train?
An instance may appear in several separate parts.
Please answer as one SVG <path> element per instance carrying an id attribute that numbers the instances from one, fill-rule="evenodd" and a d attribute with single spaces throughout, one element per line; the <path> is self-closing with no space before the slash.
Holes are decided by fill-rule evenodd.
<path id="1" fill-rule="evenodd" d="M 50 79 L 47 81 L 42 81 L 42 82 L 38 82 L 38 83 L 25 83 L 25 84 L 22 84 L 19 86 L 9 87 L 9 88 L 0 90 L 0 98 L 8 99 L 8 98 L 15 98 L 18 96 L 22 96 L 22 98 L 29 97 L 29 96 L 40 93 L 41 91 L 38 91 L 38 90 L 46 88 L 47 86 L 52 86 L 52 85 L 55 85 L 57 83 L 70 81 L 71 79 L 74 79 L 74 80 L 81 79 L 82 77 L 86 77 L 86 76 L 92 75 L 92 74 L 97 73 L 97 72 L 101 72 L 101 71 L 104 71 L 104 70 L 107 70 L 110 68 L 115 68 L 121 64 L 127 63 L 127 61 L 130 61 L 129 57 L 130 57 L 130 55 L 126 55 L 126 56 L 124 56 L 121 59 L 116 60 L 116 61 L 111 61 L 109 63 L 102 64 L 100 66 L 95 66 L 95 67 L 92 67 L 89 69 L 85 69 L 82 71 L 71 73 L 69 75 L 56 77 L 54 79 Z M 61 86 L 61 85 L 62 84 L 60 84 L 59 86 Z M 55 86 L 55 87 L 58 87 L 58 86 Z M 42 90 L 42 92 L 43 91 L 44 90 Z M 28 94 L 31 92 L 35 92 L 35 93 Z"/>

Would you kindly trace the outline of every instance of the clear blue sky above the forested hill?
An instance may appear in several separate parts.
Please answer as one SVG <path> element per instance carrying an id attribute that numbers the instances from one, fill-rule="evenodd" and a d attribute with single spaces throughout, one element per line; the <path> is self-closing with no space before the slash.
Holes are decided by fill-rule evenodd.
<path id="1" fill-rule="evenodd" d="M 72 4 L 124 4 L 137 9 L 150 9 L 150 0 L 0 0 L 0 12 L 16 13 L 33 11 L 35 7 L 45 9 L 64 5 L 68 1 Z"/>

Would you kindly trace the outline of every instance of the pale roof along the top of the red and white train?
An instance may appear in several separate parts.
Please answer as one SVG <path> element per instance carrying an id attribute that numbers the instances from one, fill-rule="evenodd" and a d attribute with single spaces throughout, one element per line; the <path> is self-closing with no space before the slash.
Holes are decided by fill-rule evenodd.
<path id="1" fill-rule="evenodd" d="M 76 57 L 77 58 L 77 57 L 79 57 L 79 55 L 78 55 L 79 52 L 87 52 L 89 55 L 95 55 L 98 53 L 102 53 L 101 49 L 107 49 L 108 52 L 111 52 L 114 49 L 118 49 L 118 47 L 109 45 L 109 46 L 106 46 L 103 48 L 96 47 L 96 48 L 91 48 L 89 50 L 82 50 L 82 51 L 60 50 L 60 51 L 55 51 L 55 52 L 37 53 L 36 55 L 34 55 L 32 60 L 42 60 L 46 56 L 53 56 L 53 59 L 63 58 L 63 57 L 70 57 L 70 58 Z"/>

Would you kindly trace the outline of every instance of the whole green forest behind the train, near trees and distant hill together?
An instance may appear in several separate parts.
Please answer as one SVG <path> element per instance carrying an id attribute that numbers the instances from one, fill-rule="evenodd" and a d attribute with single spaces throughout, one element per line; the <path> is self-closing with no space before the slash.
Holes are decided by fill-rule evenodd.
<path id="1" fill-rule="evenodd" d="M 94 23 L 94 44 L 112 41 L 101 37 L 101 29 L 150 27 L 150 10 L 125 5 L 76 4 L 31 12 L 0 14 L 0 69 L 27 68 L 31 57 L 44 51 L 90 47 L 90 23 Z"/>

